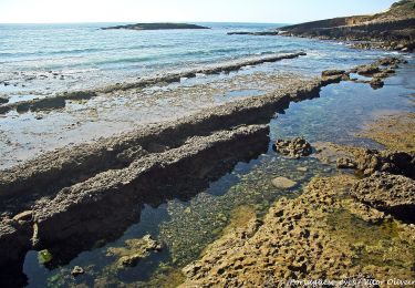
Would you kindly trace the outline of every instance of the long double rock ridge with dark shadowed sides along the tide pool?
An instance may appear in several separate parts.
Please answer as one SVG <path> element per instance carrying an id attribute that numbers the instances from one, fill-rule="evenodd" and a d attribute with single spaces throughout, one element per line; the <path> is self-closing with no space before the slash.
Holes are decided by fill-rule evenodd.
<path id="1" fill-rule="evenodd" d="M 367 66 L 376 74 L 401 62 L 390 58 Z M 349 74 L 360 69 L 367 70 L 325 71 L 320 79 L 276 93 L 206 109 L 100 143 L 45 153 L 2 171 L 0 266 L 21 271 L 24 254 L 33 248 L 54 249 L 69 261 L 96 240 L 118 236 L 139 214 L 132 205 L 196 191 L 237 162 L 255 157 L 268 146 L 263 124 L 276 111 L 319 96 L 322 86 L 350 80 Z M 189 169 L 195 176 L 183 173 Z M 159 177 L 167 181 L 165 185 L 157 183 Z M 172 181 L 175 189 L 168 184 Z M 111 210 L 117 217 L 108 219 Z M 14 280 L 22 279 L 24 276 Z"/>

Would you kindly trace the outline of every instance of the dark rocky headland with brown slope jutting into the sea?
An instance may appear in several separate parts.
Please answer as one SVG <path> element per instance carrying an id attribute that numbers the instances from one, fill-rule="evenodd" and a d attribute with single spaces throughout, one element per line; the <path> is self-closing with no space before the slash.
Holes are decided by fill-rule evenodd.
<path id="1" fill-rule="evenodd" d="M 351 42 L 356 49 L 413 52 L 415 1 L 402 0 L 386 12 L 341 17 L 278 28 L 262 32 L 229 32 L 229 35 L 284 35 Z"/>

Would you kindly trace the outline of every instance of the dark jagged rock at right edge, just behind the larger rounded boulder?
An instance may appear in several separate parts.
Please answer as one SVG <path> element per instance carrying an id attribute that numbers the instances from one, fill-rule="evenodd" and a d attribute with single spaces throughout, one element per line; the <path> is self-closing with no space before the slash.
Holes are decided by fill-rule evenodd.
<path id="1" fill-rule="evenodd" d="M 355 161 L 364 176 L 387 172 L 415 178 L 415 153 L 366 150 Z"/>

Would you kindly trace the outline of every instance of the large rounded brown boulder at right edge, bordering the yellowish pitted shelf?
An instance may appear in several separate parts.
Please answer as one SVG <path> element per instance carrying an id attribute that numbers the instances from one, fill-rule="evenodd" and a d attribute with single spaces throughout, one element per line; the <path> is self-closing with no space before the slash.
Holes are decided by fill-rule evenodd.
<path id="1" fill-rule="evenodd" d="M 408 177 L 376 172 L 359 181 L 351 193 L 376 209 L 404 220 L 415 220 L 415 181 Z"/>

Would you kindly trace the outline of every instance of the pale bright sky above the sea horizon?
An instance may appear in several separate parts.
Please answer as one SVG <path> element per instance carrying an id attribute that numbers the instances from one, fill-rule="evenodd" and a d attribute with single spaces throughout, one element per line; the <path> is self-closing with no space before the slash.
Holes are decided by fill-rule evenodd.
<path id="1" fill-rule="evenodd" d="M 0 0 L 0 23 L 297 23 L 374 13 L 395 0 Z"/>

